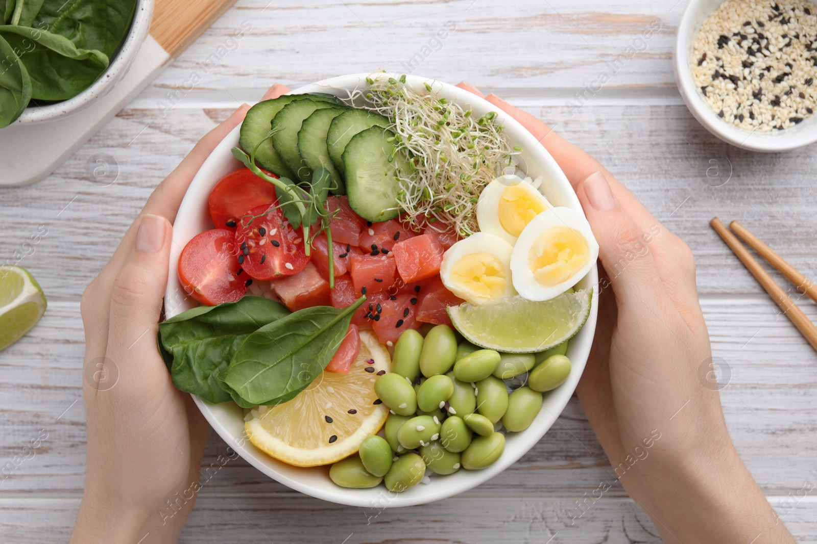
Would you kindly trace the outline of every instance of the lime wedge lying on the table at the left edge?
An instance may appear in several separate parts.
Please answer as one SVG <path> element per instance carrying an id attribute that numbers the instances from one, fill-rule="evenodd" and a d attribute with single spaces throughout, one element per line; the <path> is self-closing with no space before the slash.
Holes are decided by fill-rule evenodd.
<path id="1" fill-rule="evenodd" d="M 46 311 L 46 296 L 25 268 L 0 266 L 0 351 L 29 332 Z"/>

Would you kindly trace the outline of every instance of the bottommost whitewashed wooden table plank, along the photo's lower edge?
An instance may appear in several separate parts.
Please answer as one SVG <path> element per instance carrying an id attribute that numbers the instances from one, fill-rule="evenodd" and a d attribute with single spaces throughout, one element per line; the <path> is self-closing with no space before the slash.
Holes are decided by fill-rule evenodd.
<path id="1" fill-rule="evenodd" d="M 817 542 L 815 502 L 785 501 L 770 500 L 797 542 Z M 64 544 L 78 507 L 78 498 L 0 499 L 0 534 L 16 544 Z M 585 509 L 578 517 L 581 511 L 570 498 L 449 498 L 390 509 L 340 506 L 304 495 L 199 498 L 179 542 L 661 542 L 650 517 L 629 498 L 588 500 Z"/>

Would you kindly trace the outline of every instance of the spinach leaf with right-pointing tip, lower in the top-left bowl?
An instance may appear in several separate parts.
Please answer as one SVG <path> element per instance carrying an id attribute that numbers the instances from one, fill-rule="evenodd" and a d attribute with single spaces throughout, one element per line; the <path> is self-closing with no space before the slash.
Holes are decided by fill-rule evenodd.
<path id="1" fill-rule="evenodd" d="M 108 55 L 79 49 L 65 36 L 25 26 L 0 26 L 31 77 L 31 97 L 68 100 L 87 89 L 108 67 Z"/>

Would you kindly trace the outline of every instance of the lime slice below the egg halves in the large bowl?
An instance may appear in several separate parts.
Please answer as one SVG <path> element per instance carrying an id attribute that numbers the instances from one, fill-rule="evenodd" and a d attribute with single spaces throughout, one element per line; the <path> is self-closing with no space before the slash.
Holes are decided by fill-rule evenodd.
<path id="1" fill-rule="evenodd" d="M 581 329 L 590 315 L 592 290 L 562 293 L 541 302 L 519 295 L 485 304 L 449 306 L 449 316 L 469 342 L 498 352 L 542 352 Z"/>

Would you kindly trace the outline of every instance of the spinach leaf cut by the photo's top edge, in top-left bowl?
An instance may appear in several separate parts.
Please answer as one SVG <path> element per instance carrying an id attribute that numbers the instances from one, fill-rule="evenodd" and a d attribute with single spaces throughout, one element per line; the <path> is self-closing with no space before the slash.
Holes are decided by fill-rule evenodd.
<path id="1" fill-rule="evenodd" d="M 113 57 L 135 12 L 136 0 L 45 0 L 33 26 Z"/>

